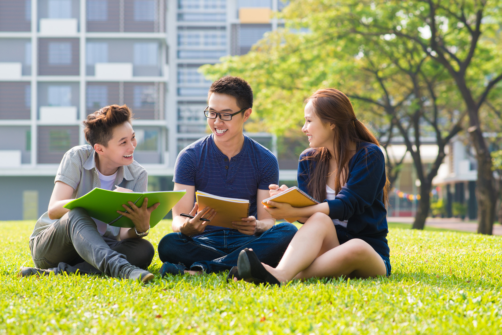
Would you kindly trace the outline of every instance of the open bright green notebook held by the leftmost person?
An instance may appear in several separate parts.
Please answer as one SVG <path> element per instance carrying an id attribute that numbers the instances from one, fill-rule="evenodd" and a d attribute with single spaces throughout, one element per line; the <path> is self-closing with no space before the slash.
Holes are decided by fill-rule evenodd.
<path id="1" fill-rule="evenodd" d="M 87 213 L 100 221 L 106 222 L 110 226 L 133 228 L 131 219 L 122 216 L 117 211 L 124 211 L 122 204 L 129 207 L 128 201 L 141 207 L 145 198 L 148 198 L 148 207 L 160 203 L 159 207 L 150 215 L 150 227 L 154 227 L 162 220 L 167 213 L 185 195 L 186 190 L 162 191 L 162 192 L 113 192 L 94 188 L 86 195 L 70 201 L 64 208 L 72 210 L 81 207 Z"/>

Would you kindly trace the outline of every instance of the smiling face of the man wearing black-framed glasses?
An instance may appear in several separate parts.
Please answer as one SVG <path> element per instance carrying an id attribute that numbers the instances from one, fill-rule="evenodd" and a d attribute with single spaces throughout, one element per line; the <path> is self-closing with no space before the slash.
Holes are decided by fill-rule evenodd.
<path id="1" fill-rule="evenodd" d="M 209 107 L 207 109 L 216 113 L 233 114 L 241 110 L 237 106 L 235 98 L 227 94 L 211 94 L 208 104 Z M 219 116 L 215 119 L 207 118 L 207 124 L 214 134 L 214 140 L 223 143 L 240 138 L 244 122 L 249 118 L 249 115 L 251 115 L 251 108 L 246 109 L 243 115 L 239 113 L 232 116 L 232 119 L 229 121 L 222 120 Z"/>

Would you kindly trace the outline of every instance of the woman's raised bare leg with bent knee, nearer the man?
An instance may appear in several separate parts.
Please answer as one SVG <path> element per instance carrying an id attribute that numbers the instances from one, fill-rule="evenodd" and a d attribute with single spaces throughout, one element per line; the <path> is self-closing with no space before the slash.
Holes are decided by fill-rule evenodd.
<path id="1" fill-rule="evenodd" d="M 276 268 L 262 264 L 279 281 L 288 282 L 338 245 L 333 221 L 326 214 L 315 213 L 295 234 Z"/>

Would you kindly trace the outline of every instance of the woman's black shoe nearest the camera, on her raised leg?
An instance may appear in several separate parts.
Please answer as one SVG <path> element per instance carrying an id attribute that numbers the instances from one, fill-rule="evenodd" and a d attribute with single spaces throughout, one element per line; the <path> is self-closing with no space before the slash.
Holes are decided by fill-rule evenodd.
<path id="1" fill-rule="evenodd" d="M 253 265 L 249 257 L 256 258 L 253 260 Z M 255 267 L 255 269 L 253 269 L 253 267 Z M 239 253 L 239 257 L 237 259 L 237 269 L 240 278 L 249 283 L 254 283 L 256 285 L 281 285 L 279 280 L 277 280 L 276 277 L 274 277 L 269 271 L 264 268 L 256 254 L 253 251 L 249 251 L 247 248 Z"/>

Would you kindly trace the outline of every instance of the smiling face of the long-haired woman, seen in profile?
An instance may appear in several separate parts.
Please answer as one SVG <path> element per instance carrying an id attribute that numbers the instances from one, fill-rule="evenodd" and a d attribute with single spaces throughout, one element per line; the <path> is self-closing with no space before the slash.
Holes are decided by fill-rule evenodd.
<path id="1" fill-rule="evenodd" d="M 322 122 L 317 117 L 312 101 L 305 105 L 305 124 L 302 131 L 309 137 L 311 148 L 333 147 L 334 128 L 333 123 Z"/>

